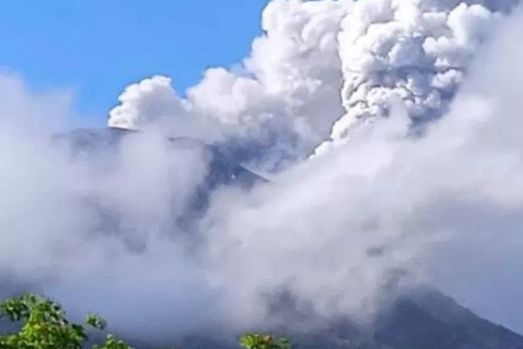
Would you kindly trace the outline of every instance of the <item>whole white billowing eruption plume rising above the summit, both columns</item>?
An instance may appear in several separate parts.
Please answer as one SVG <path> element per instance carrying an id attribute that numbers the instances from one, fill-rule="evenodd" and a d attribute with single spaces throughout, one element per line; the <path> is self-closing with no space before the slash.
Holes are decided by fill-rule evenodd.
<path id="1" fill-rule="evenodd" d="M 109 126 L 140 128 L 161 119 L 170 133 L 186 134 L 185 125 L 211 124 L 191 134 L 257 139 L 267 153 L 295 161 L 343 142 L 362 119 L 388 115 L 391 100 L 419 126 L 446 112 L 473 55 L 514 4 L 271 1 L 262 16 L 265 34 L 243 71 L 212 68 L 187 98 L 166 77 L 133 84 L 110 112 Z"/>

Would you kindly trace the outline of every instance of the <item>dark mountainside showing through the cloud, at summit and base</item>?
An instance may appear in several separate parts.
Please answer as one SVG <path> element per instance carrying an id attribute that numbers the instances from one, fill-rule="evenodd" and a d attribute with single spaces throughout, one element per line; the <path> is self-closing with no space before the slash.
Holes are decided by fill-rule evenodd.
<path id="1" fill-rule="evenodd" d="M 73 155 L 90 154 L 117 149 L 124 137 L 134 133 L 116 128 L 78 130 L 58 135 L 56 141 L 69 142 Z M 184 221 L 177 222 L 185 227 L 190 228 L 190 221 L 204 211 L 209 195 L 215 188 L 229 185 L 250 188 L 258 181 L 266 181 L 237 165 L 232 157 L 224 155 L 218 147 L 190 138 L 175 138 L 170 142 L 173 147 L 200 147 L 209 156 L 209 174 L 204 184 L 197 189 L 195 199 L 185 208 L 187 212 L 183 215 Z M 0 285 L 0 291 L 0 297 L 6 295 L 6 283 Z M 283 306 L 277 308 L 278 313 L 286 313 L 287 310 L 282 309 L 288 309 L 292 302 L 283 303 Z M 289 319 L 292 318 L 293 315 L 290 315 Z M 293 341 L 294 348 L 303 349 L 523 349 L 523 336 L 479 318 L 432 288 L 411 290 L 397 297 L 377 315 L 371 325 L 365 327 L 349 320 L 338 320 L 321 325 L 314 332 L 301 333 L 281 327 L 273 332 L 285 334 Z M 238 348 L 228 341 L 224 343 L 204 335 L 191 336 L 172 344 L 184 349 Z M 150 347 L 149 343 L 140 344 L 138 341 L 135 341 L 135 345 L 138 348 Z"/>

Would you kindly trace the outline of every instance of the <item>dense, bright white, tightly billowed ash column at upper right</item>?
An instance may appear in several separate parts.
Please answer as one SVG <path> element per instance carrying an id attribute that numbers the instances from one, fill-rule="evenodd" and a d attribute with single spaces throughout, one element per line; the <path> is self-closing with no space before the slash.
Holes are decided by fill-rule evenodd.
<path id="1" fill-rule="evenodd" d="M 346 139 L 356 121 L 388 116 L 391 103 L 412 126 L 443 115 L 500 19 L 480 4 L 434 10 L 418 0 L 358 1 L 338 35 L 346 112 L 317 152 Z"/>

